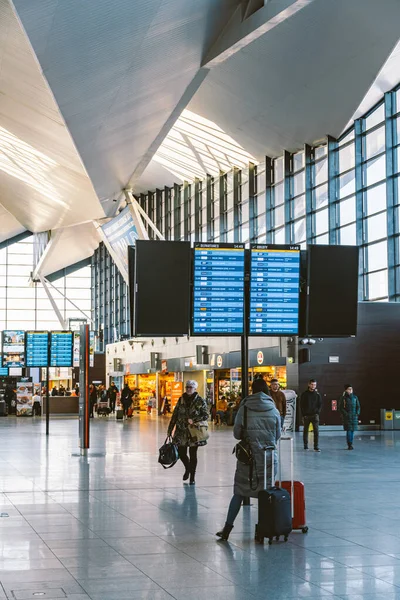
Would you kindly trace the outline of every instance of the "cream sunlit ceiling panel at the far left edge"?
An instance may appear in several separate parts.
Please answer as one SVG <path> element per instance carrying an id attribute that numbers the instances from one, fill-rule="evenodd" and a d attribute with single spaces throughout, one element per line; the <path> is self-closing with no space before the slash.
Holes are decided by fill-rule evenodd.
<path id="1" fill-rule="evenodd" d="M 8 0 L 0 0 L 0 202 L 34 232 L 104 216 Z"/>

